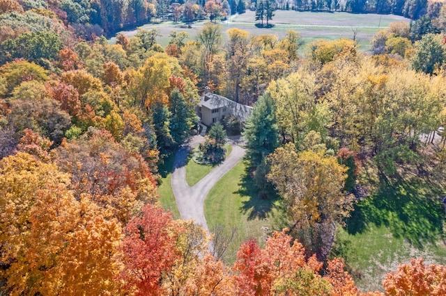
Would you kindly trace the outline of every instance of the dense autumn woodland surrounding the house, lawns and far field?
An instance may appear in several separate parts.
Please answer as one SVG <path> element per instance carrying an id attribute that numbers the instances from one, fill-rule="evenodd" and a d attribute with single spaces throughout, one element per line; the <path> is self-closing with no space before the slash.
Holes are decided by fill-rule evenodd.
<path id="1" fill-rule="evenodd" d="M 360 295 L 328 253 L 334 228 L 376 190 L 357 181 L 364 166 L 387 184 L 429 180 L 444 221 L 446 5 L 347 1 L 426 13 L 380 31 L 365 54 L 321 40 L 299 56 L 295 31 L 231 28 L 223 42 L 213 23 L 197 40 L 172 32 L 165 48 L 156 30 L 100 37 L 176 8 L 178 20 L 215 20 L 209 2 L 0 0 L 0 295 Z M 247 174 L 286 213 L 286 229 L 263 249 L 245 242 L 231 266 L 157 196 L 158 166 L 194 132 L 204 86 L 254 106 Z M 444 266 L 414 259 L 383 289 L 445 295 L 445 281 Z"/>

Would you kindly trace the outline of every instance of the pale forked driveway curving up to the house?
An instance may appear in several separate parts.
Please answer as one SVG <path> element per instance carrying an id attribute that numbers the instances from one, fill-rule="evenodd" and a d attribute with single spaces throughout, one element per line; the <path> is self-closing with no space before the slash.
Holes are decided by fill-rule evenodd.
<path id="1" fill-rule="evenodd" d="M 178 149 L 174 161 L 174 172 L 172 173 L 172 190 L 174 190 L 176 204 L 181 218 L 185 220 L 193 219 L 195 223 L 207 230 L 208 225 L 206 224 L 203 211 L 204 199 L 206 199 L 206 196 L 215 183 L 240 161 L 240 158 L 245 155 L 245 150 L 238 145 L 233 145 L 231 154 L 226 157 L 223 163 L 215 167 L 215 169 L 204 176 L 197 184 L 190 187 L 186 181 L 185 165 L 187 163 L 187 156 L 192 148 L 203 140 L 204 138 L 201 135 L 196 135 Z"/>

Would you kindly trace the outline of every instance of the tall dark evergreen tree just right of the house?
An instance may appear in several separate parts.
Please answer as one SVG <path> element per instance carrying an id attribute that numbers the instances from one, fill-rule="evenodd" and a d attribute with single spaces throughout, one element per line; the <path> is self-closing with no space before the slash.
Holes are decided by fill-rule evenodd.
<path id="1" fill-rule="evenodd" d="M 257 167 L 263 157 L 279 147 L 278 129 L 275 102 L 269 92 L 266 92 L 254 104 L 254 110 L 243 131 L 247 157 L 252 167 Z"/>

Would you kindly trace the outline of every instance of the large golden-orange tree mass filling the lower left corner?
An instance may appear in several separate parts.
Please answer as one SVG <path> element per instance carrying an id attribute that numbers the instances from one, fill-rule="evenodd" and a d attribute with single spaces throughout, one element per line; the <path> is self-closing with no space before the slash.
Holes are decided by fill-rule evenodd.
<path id="1" fill-rule="evenodd" d="M 10 295 L 118 291 L 121 227 L 91 199 L 76 199 L 69 183 L 68 174 L 30 154 L 0 161 L 0 276 Z"/>

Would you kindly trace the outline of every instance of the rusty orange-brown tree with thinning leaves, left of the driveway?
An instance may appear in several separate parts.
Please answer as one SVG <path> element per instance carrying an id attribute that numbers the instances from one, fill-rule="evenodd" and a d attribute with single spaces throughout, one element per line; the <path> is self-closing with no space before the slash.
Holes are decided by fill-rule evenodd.
<path id="1" fill-rule="evenodd" d="M 83 138 L 63 142 L 56 161 L 70 173 L 75 196 L 91 196 L 104 215 L 125 224 L 146 203 L 157 199 L 156 181 L 139 154 L 118 144 L 106 130 L 89 129 Z"/>

